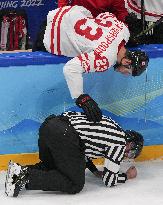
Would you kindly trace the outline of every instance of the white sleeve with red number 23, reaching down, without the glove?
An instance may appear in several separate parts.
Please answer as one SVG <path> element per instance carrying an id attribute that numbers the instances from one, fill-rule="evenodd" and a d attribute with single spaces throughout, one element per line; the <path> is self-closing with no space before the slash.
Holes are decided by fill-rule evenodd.
<path id="1" fill-rule="evenodd" d="M 104 72 L 112 64 L 113 62 L 106 56 L 98 55 L 95 51 L 83 53 L 68 61 L 63 68 L 63 73 L 71 97 L 78 98 L 83 94 L 83 73 Z"/>

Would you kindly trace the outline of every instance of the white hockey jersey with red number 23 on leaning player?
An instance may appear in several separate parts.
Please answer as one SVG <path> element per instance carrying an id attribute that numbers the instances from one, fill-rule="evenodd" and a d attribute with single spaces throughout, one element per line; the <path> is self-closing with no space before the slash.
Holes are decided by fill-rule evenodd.
<path id="1" fill-rule="evenodd" d="M 49 12 L 43 42 L 52 54 L 74 57 L 65 64 L 64 75 L 72 98 L 77 98 L 83 93 L 82 74 L 106 71 L 128 38 L 128 28 L 113 14 L 93 18 L 82 6 L 66 6 Z"/>

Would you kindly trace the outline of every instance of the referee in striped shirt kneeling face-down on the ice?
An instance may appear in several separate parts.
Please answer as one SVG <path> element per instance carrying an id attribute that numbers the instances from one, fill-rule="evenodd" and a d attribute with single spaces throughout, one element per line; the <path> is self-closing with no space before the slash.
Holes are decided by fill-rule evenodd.
<path id="1" fill-rule="evenodd" d="M 81 112 L 49 116 L 39 129 L 39 158 L 35 165 L 9 162 L 5 192 L 17 197 L 26 186 L 29 190 L 80 192 L 85 184 L 85 168 L 100 177 L 107 187 L 135 178 L 130 167 L 121 173 L 124 157 L 136 158 L 143 148 L 143 137 L 133 130 L 124 131 L 111 118 L 102 116 L 98 123 L 88 121 Z M 92 159 L 104 158 L 100 172 Z"/>

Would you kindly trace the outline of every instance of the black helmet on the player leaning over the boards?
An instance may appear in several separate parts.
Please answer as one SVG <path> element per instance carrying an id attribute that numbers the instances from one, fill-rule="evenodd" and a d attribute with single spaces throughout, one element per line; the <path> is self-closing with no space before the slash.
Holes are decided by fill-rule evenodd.
<path id="1" fill-rule="evenodd" d="M 141 50 L 127 50 L 125 58 L 131 60 L 132 76 L 141 75 L 148 66 L 148 55 Z"/>

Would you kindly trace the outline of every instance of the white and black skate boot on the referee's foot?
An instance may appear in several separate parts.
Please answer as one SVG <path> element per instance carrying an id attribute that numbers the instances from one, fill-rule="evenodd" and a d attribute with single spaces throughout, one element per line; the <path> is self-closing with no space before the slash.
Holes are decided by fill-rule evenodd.
<path id="1" fill-rule="evenodd" d="M 28 182 L 28 167 L 21 166 L 12 161 L 8 164 L 5 182 L 5 193 L 7 196 L 17 197 L 19 191 Z"/>

